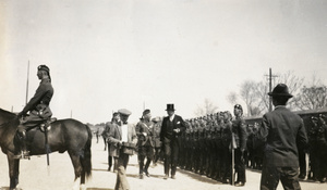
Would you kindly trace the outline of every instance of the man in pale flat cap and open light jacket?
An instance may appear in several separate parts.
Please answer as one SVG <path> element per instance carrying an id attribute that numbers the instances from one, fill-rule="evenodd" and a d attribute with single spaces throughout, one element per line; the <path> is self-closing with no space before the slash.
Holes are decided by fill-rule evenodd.
<path id="1" fill-rule="evenodd" d="M 131 111 L 121 109 L 118 111 L 120 114 L 120 122 L 118 125 L 113 125 L 109 131 L 109 142 L 112 148 L 117 151 L 118 163 L 117 163 L 117 180 L 114 190 L 128 190 L 130 185 L 126 178 L 126 167 L 130 161 L 130 154 L 124 152 L 124 144 L 133 144 L 136 147 L 137 136 L 135 127 L 128 123 Z M 114 151 L 114 150 L 112 150 Z"/>

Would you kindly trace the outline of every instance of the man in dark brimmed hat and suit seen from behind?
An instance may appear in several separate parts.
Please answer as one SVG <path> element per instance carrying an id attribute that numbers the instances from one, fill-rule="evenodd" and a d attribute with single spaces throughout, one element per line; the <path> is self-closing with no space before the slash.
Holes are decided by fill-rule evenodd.
<path id="1" fill-rule="evenodd" d="M 301 189 L 298 148 L 307 143 L 303 121 L 286 107 L 293 97 L 287 85 L 278 84 L 268 96 L 275 110 L 263 116 L 258 129 L 259 138 L 265 141 L 261 189 L 276 189 L 279 180 L 284 189 Z"/>

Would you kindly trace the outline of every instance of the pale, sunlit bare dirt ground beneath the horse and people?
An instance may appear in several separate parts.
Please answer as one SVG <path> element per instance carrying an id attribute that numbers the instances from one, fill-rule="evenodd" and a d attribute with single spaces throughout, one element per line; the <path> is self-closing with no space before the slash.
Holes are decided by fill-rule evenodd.
<path id="1" fill-rule="evenodd" d="M 117 174 L 107 172 L 107 151 L 104 151 L 101 139 L 96 143 L 93 139 L 92 147 L 93 176 L 86 182 L 86 190 L 113 190 Z M 21 161 L 21 175 L 19 187 L 24 190 L 68 190 L 73 187 L 73 166 L 66 153 L 50 154 L 50 167 L 46 165 L 46 156 L 33 156 L 29 161 Z M 9 174 L 7 157 L 0 153 L 0 190 L 8 190 Z M 150 177 L 138 178 L 137 156 L 130 159 L 128 166 L 128 180 L 132 190 L 254 190 L 259 189 L 261 174 L 246 170 L 246 185 L 244 187 L 232 187 L 211 180 L 205 176 L 178 169 L 177 179 L 164 179 L 164 166 L 158 164 L 149 168 Z M 301 181 L 303 190 L 327 189 L 327 183 Z M 278 190 L 281 190 L 281 185 Z"/>

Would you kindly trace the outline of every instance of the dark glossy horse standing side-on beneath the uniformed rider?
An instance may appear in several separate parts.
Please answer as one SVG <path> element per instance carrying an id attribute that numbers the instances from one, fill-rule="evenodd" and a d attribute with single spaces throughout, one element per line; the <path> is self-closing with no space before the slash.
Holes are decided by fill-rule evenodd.
<path id="1" fill-rule="evenodd" d="M 19 118 L 14 113 L 0 109 L 0 147 L 7 154 L 9 164 L 10 189 L 15 189 L 19 183 L 20 160 L 14 160 L 15 134 Z M 31 155 L 46 154 L 46 138 L 39 127 L 27 132 L 27 147 Z M 63 153 L 68 151 L 75 172 L 75 183 L 81 177 L 81 185 L 90 176 L 90 143 L 92 131 L 88 126 L 75 119 L 61 119 L 51 123 L 48 131 L 50 152 Z M 75 185 L 80 186 L 80 185 Z"/>

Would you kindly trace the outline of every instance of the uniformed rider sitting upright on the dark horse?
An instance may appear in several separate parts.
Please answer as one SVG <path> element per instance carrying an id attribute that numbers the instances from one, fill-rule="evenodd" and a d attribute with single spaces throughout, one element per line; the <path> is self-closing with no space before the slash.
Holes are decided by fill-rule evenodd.
<path id="1" fill-rule="evenodd" d="M 17 128 L 20 149 L 16 149 L 17 154 L 15 155 L 15 159 L 28 157 L 29 152 L 26 148 L 26 130 L 38 126 L 52 116 L 49 104 L 53 96 L 53 88 L 51 85 L 49 67 L 46 65 L 39 65 L 37 67 L 37 77 L 41 81 L 34 97 L 17 115 L 20 118 L 20 125 Z M 29 115 L 27 115 L 27 112 L 29 112 Z"/>

